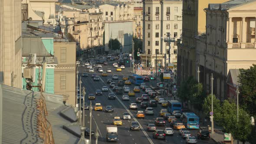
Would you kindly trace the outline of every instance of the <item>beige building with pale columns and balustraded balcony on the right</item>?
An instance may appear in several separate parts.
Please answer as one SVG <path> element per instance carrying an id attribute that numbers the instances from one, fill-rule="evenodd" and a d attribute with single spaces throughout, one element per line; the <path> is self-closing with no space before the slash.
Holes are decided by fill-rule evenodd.
<path id="1" fill-rule="evenodd" d="M 256 63 L 256 0 L 209 4 L 205 10 L 206 33 L 196 36 L 196 65 L 207 92 L 213 73 L 213 92 L 223 100 L 229 70 L 248 69 Z"/>

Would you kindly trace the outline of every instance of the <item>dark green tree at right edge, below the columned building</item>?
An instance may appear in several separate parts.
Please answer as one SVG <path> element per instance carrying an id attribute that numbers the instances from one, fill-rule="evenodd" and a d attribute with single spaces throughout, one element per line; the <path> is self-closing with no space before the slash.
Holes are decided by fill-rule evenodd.
<path id="1" fill-rule="evenodd" d="M 250 69 L 240 69 L 240 105 L 251 115 L 256 116 L 256 65 Z"/>

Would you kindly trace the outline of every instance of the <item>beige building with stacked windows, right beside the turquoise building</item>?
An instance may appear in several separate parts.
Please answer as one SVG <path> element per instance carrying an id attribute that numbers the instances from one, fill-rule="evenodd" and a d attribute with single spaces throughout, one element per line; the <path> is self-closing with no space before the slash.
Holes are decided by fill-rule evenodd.
<path id="1" fill-rule="evenodd" d="M 67 98 L 67 103 L 75 106 L 75 42 L 54 39 L 54 56 L 58 65 L 54 69 L 54 93 Z"/>

